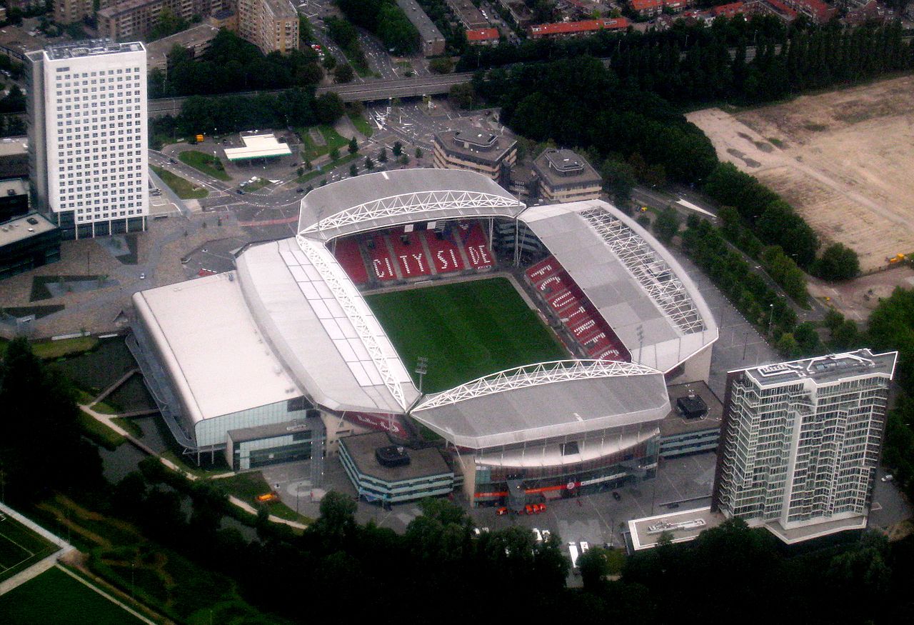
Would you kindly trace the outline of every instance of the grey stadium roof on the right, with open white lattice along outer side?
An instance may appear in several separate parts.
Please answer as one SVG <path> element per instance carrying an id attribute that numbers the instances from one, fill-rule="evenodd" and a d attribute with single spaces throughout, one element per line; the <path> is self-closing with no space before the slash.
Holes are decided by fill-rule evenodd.
<path id="1" fill-rule="evenodd" d="M 695 283 L 664 247 L 601 200 L 531 207 L 520 220 L 610 324 L 634 362 L 669 371 L 717 340 Z"/>

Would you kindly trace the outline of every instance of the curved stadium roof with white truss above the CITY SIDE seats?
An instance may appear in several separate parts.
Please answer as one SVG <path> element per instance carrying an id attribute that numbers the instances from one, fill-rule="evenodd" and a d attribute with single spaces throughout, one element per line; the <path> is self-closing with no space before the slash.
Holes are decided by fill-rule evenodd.
<path id="1" fill-rule="evenodd" d="M 319 186 L 302 199 L 298 232 L 327 240 L 416 221 L 516 217 L 524 204 L 484 175 L 399 169 Z"/>

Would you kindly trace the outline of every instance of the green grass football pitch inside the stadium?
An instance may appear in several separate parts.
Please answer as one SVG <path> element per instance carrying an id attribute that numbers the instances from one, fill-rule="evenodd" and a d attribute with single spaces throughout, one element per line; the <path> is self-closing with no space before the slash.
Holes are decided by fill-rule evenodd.
<path id="1" fill-rule="evenodd" d="M 505 278 L 367 296 L 413 380 L 437 393 L 514 366 L 569 358 L 553 332 Z"/>

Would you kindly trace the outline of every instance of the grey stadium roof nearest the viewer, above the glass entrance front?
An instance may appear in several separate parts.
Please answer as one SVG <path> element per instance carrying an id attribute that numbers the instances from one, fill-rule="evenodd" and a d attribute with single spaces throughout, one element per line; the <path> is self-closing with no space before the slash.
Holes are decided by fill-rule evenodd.
<path id="1" fill-rule="evenodd" d="M 425 397 L 416 420 L 473 450 L 664 418 L 664 376 L 643 365 L 558 361 L 484 376 Z"/>

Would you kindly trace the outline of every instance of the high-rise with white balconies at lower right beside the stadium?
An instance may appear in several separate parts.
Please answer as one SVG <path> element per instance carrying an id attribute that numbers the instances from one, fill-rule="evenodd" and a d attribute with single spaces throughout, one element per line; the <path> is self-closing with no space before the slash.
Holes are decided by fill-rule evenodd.
<path id="1" fill-rule="evenodd" d="M 788 543 L 865 527 L 897 356 L 730 372 L 713 506 Z"/>

